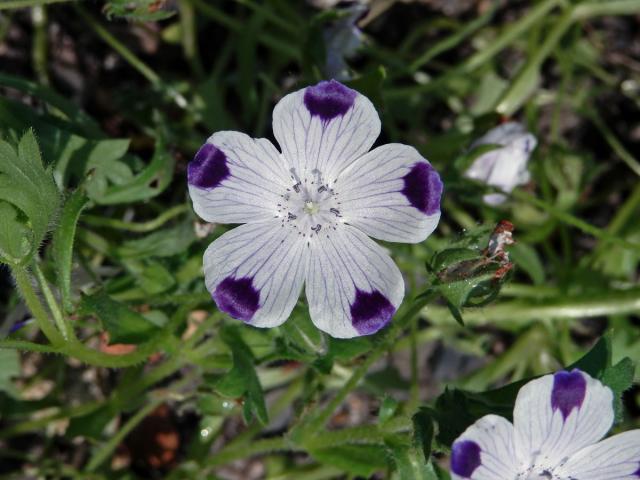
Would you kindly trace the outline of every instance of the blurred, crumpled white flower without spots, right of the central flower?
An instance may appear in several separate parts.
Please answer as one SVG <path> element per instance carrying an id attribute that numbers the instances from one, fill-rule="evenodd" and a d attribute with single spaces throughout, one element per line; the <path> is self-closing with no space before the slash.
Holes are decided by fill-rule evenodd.
<path id="1" fill-rule="evenodd" d="M 517 185 L 524 185 L 531 176 L 527 162 L 538 141 L 517 122 L 507 122 L 476 140 L 471 148 L 482 145 L 500 145 L 476 158 L 464 173 L 465 177 L 478 180 L 504 192 L 511 192 Z M 483 197 L 489 205 L 500 205 L 506 200 L 501 193 Z"/>

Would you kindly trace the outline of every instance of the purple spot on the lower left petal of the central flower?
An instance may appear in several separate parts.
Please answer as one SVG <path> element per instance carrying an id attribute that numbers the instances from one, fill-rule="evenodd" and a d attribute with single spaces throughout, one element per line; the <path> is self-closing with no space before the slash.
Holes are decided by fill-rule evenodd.
<path id="1" fill-rule="evenodd" d="M 260 307 L 260 292 L 251 278 L 225 278 L 213 292 L 218 308 L 233 318 L 248 322 Z"/>

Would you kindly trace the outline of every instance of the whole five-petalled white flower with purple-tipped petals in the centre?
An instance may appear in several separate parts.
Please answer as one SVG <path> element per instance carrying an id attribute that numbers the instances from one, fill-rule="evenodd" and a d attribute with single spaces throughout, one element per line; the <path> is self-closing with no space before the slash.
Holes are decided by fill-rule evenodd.
<path id="1" fill-rule="evenodd" d="M 217 132 L 188 167 L 196 213 L 240 223 L 204 254 L 218 308 L 256 327 L 291 314 L 303 285 L 311 320 L 339 338 L 377 332 L 404 296 L 400 270 L 369 237 L 417 243 L 440 219 L 440 177 L 413 147 L 369 149 L 371 102 L 334 80 L 285 96 L 266 139 Z"/>

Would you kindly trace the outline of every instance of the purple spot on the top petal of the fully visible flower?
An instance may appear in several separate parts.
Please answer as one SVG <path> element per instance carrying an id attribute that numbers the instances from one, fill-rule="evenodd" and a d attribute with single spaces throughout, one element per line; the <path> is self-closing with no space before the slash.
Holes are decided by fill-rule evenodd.
<path id="1" fill-rule="evenodd" d="M 311 116 L 318 116 L 328 122 L 344 115 L 353 106 L 358 92 L 345 87 L 340 82 L 323 81 L 307 87 L 304 91 L 304 104 Z"/>

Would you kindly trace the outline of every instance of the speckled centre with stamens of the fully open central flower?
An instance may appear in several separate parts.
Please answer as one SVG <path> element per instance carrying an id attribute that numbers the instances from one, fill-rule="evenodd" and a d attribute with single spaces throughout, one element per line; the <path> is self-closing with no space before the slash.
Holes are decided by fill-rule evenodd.
<path id="1" fill-rule="evenodd" d="M 321 236 L 328 237 L 342 223 L 338 193 L 319 170 L 298 175 L 292 168 L 291 182 L 278 203 L 276 218 L 282 227 L 296 230 L 308 245 Z"/>

